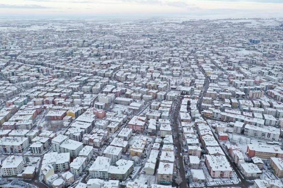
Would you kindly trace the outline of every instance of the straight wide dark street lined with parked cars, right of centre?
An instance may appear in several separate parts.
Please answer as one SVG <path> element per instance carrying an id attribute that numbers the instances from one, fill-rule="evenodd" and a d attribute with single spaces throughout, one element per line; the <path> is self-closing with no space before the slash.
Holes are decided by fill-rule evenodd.
<path id="1" fill-rule="evenodd" d="M 179 185 L 180 188 L 186 188 L 187 187 L 187 180 L 186 180 L 186 173 L 185 173 L 185 168 L 184 168 L 184 163 L 183 163 L 183 158 L 180 156 L 180 153 L 182 153 L 182 140 L 179 134 L 179 126 L 178 126 L 178 117 L 179 117 L 179 111 L 181 107 L 181 100 L 182 98 L 180 97 L 178 99 L 178 103 L 176 105 L 174 114 L 173 114 L 173 135 L 175 136 L 174 138 L 174 143 L 175 146 L 177 147 L 177 152 L 176 154 L 176 159 L 179 161 L 179 173 L 182 178 L 182 183 Z"/>

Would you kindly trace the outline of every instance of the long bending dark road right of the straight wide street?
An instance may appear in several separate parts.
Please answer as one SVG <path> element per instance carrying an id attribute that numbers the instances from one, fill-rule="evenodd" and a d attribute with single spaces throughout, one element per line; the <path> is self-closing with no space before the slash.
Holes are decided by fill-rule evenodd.
<path id="1" fill-rule="evenodd" d="M 206 121 L 206 122 L 207 122 L 207 118 L 202 114 L 202 112 L 201 112 L 201 106 L 202 106 L 202 102 L 203 102 L 203 96 L 206 95 L 206 92 L 207 92 L 207 90 L 208 90 L 208 85 L 209 85 L 209 80 L 206 78 L 206 79 L 205 79 L 205 85 L 204 85 L 203 94 L 202 94 L 202 96 L 201 96 L 201 98 L 199 99 L 199 102 L 198 102 L 198 111 L 199 111 L 199 113 L 202 115 L 203 120 Z M 207 123 L 208 123 L 208 122 L 207 122 Z M 208 125 L 209 125 L 209 124 L 208 124 Z M 237 168 L 236 164 L 234 164 L 234 162 L 231 160 L 230 156 L 229 156 L 228 153 L 226 152 L 226 149 L 223 148 L 223 146 L 222 146 L 221 143 L 219 142 L 216 133 L 213 131 L 213 128 L 212 128 L 212 127 L 210 127 L 210 128 L 211 128 L 211 130 L 212 130 L 212 133 L 213 133 L 213 136 L 214 136 L 215 140 L 218 142 L 220 148 L 224 151 L 225 156 L 226 156 L 227 160 L 229 161 L 231 167 L 232 167 L 233 170 L 235 171 L 235 173 L 236 173 L 236 175 L 238 176 L 238 178 L 240 178 L 240 180 L 241 180 L 241 182 L 240 182 L 239 184 L 237 184 L 237 186 L 240 186 L 240 187 L 242 187 L 242 188 L 248 188 L 248 186 L 253 185 L 253 183 L 247 181 L 245 178 L 242 177 L 242 174 L 241 174 L 241 172 L 239 171 L 239 169 Z M 233 185 L 235 185 L 235 184 L 233 184 Z M 228 186 L 228 185 L 227 185 L 227 186 Z M 227 186 L 226 186 L 226 187 L 227 187 Z M 207 186 L 207 187 L 215 187 L 215 186 Z M 216 186 L 216 187 L 217 187 L 217 186 Z M 218 187 L 219 187 L 219 186 L 218 186 Z"/>

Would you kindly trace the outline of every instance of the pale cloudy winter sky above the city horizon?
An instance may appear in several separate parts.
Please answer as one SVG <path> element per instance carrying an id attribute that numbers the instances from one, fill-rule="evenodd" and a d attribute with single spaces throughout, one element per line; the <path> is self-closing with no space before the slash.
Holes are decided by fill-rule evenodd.
<path id="1" fill-rule="evenodd" d="M 283 17 L 283 0 L 0 0 L 2 17 Z"/>

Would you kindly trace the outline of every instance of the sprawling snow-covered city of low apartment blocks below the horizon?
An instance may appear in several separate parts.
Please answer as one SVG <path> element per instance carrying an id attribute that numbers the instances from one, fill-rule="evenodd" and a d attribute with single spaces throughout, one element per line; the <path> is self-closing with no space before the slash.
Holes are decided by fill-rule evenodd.
<path id="1" fill-rule="evenodd" d="M 0 49 L 1 187 L 283 187 L 283 19 L 7 19 Z"/>

